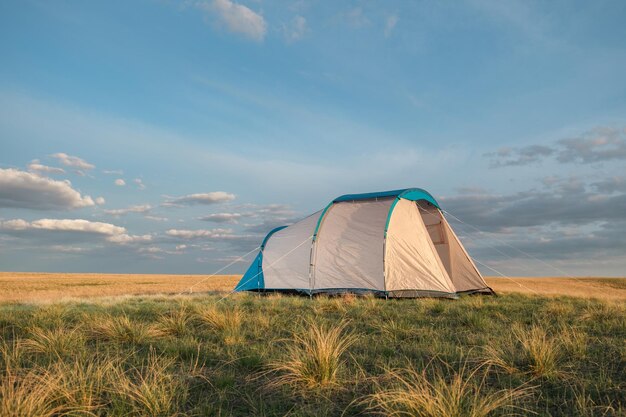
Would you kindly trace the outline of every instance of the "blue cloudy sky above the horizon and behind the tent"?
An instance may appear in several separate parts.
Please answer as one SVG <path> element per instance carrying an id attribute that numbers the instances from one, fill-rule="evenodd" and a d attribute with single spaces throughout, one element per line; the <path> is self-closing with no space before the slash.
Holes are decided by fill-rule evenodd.
<path id="1" fill-rule="evenodd" d="M 624 276 L 625 21 L 602 0 L 2 1 L 0 270 L 240 273 L 339 195 L 420 187 L 484 274 Z"/>

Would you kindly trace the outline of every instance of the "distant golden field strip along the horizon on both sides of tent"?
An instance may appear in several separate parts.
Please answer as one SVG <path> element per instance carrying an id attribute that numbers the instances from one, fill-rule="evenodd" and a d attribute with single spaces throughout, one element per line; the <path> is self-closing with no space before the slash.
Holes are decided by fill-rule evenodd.
<path id="1" fill-rule="evenodd" d="M 0 302 L 230 291 L 239 275 L 55 274 L 0 272 Z M 487 277 L 498 293 L 626 300 L 626 278 Z"/>

